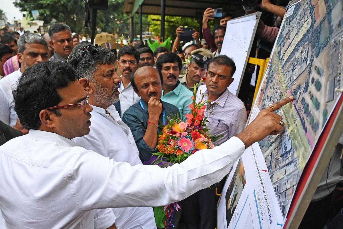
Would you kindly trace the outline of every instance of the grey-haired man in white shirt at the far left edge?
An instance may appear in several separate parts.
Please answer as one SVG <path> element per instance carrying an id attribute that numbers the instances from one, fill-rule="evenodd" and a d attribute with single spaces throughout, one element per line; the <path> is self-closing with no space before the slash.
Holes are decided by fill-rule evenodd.
<path id="1" fill-rule="evenodd" d="M 0 120 L 14 127 L 18 116 L 14 111 L 12 86 L 22 76 L 24 71 L 35 64 L 48 61 L 48 44 L 43 37 L 35 33 L 25 33 L 18 39 L 17 54 L 21 68 L 0 80 Z"/>

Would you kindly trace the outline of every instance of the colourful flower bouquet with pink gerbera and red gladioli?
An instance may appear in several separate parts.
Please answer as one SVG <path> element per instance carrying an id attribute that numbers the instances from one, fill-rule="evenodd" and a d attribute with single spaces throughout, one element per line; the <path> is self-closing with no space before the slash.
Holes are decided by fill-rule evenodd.
<path id="1" fill-rule="evenodd" d="M 212 149 L 212 142 L 220 139 L 221 136 L 212 136 L 206 128 L 207 117 L 204 117 L 206 105 L 209 101 L 196 101 L 196 84 L 194 86 L 192 103 L 189 105 L 191 113 L 186 114 L 187 121 L 180 117 L 172 117 L 166 120 L 163 130 L 158 133 L 157 153 L 153 153 L 156 158 L 153 165 L 160 167 L 172 166 L 181 163 L 187 157 L 203 149 Z M 162 129 L 162 128 L 161 128 Z M 174 228 L 174 213 L 178 211 L 177 203 L 169 204 L 165 207 L 155 207 L 155 219 L 158 227 Z"/>

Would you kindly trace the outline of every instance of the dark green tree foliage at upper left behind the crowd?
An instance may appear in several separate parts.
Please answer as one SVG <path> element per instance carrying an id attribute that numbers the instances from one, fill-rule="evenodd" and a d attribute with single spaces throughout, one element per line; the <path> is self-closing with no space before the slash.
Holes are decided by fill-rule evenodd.
<path id="1" fill-rule="evenodd" d="M 97 11 L 96 28 L 99 28 L 100 32 L 117 33 L 119 36 L 129 35 L 130 15 L 123 12 L 124 1 L 109 0 L 106 11 Z M 84 26 L 85 5 L 81 0 L 15 0 L 14 5 L 23 12 L 27 11 L 31 17 L 31 10 L 38 10 L 39 20 L 46 24 L 55 21 L 65 22 L 72 32 L 91 33 L 90 28 Z M 92 10 L 90 11 L 92 13 Z M 147 25 L 147 16 L 143 15 L 142 19 L 143 25 Z M 138 14 L 134 16 L 134 24 L 135 34 L 139 34 Z"/>

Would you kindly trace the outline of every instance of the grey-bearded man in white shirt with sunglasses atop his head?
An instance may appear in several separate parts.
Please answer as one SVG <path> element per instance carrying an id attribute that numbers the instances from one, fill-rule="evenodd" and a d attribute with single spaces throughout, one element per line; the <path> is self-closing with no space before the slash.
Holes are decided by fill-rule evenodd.
<path id="1" fill-rule="evenodd" d="M 90 133 L 72 140 L 87 150 L 130 165 L 142 164 L 130 128 L 121 120 L 113 103 L 119 101 L 120 76 L 114 62 L 116 54 L 107 48 L 80 44 L 71 52 L 68 63 L 76 70 L 79 82 L 92 106 Z M 95 70 L 94 70 L 95 69 Z M 117 228 L 156 228 L 152 207 L 113 208 Z M 95 226 L 107 225 L 108 217 L 95 215 Z"/>

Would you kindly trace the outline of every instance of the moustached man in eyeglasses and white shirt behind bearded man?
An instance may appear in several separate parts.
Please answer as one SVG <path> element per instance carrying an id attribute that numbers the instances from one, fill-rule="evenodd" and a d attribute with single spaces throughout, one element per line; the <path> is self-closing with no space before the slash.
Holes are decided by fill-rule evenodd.
<path id="1" fill-rule="evenodd" d="M 138 69 L 139 52 L 133 46 L 124 46 L 118 51 L 118 68 L 121 74 L 119 86 L 120 118 L 124 112 L 141 98 L 133 91 L 130 77 Z"/>

